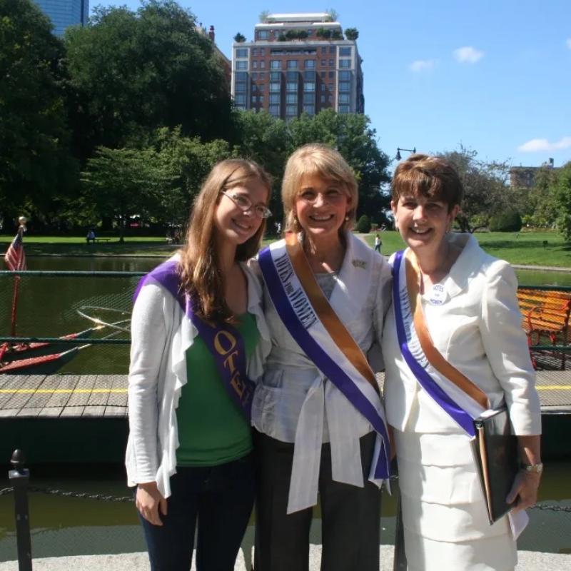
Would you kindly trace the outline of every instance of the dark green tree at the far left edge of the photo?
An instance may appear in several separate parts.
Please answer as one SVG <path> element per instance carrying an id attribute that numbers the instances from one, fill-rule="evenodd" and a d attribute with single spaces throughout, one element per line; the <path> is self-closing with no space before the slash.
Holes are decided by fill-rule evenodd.
<path id="1" fill-rule="evenodd" d="M 76 188 L 64 103 L 64 49 L 29 0 L 0 0 L 0 218 L 48 221 Z M 37 227 L 37 226 L 36 226 Z"/>

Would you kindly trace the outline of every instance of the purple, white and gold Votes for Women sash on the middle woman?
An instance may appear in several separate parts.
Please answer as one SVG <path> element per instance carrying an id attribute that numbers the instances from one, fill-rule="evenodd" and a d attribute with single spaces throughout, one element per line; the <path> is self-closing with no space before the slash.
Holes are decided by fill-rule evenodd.
<path id="1" fill-rule="evenodd" d="M 258 256 L 273 305 L 285 328 L 315 366 L 377 433 L 371 480 L 389 477 L 389 439 L 375 374 L 315 281 L 294 233 Z"/>

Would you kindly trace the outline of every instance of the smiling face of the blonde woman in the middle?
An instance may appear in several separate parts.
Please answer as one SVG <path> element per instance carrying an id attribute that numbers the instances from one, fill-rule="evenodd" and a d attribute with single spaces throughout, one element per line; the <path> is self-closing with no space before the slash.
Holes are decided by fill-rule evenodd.
<path id="1" fill-rule="evenodd" d="M 307 236 L 336 239 L 350 204 L 351 198 L 341 183 L 306 174 L 300 180 L 294 210 Z"/>

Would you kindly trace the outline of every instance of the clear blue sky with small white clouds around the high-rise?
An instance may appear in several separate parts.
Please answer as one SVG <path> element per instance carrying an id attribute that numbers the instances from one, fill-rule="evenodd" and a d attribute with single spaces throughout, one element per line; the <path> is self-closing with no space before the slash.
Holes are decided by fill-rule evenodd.
<path id="1" fill-rule="evenodd" d="M 92 7 L 138 0 L 91 0 Z M 483 160 L 571 160 L 571 0 L 181 0 L 231 55 L 263 10 L 334 9 L 359 31 L 365 113 L 380 148 L 473 148 Z M 406 154 L 406 153 L 403 153 Z M 394 165 L 393 165 L 394 166 Z"/>

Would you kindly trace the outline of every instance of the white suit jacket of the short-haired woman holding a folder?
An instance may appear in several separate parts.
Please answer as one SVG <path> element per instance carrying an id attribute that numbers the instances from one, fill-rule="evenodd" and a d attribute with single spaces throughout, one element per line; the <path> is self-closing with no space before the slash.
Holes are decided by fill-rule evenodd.
<path id="1" fill-rule="evenodd" d="M 445 359 L 486 393 L 492 408 L 505 399 L 516 435 L 540 434 L 540 401 L 521 326 L 515 273 L 507 262 L 485 253 L 474 236 L 450 234 L 449 238 L 463 251 L 440 282 L 445 301 L 433 305 L 428 295 L 422 300 L 433 342 Z M 393 310 L 385 325 L 383 355 L 388 423 L 414 432 L 458 431 L 405 363 Z"/>

